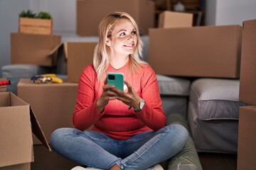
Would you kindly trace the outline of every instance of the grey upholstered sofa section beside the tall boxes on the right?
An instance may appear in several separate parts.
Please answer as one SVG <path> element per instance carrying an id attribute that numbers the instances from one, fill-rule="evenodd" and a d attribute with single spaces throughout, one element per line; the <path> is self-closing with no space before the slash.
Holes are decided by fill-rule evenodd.
<path id="1" fill-rule="evenodd" d="M 188 123 L 198 152 L 238 152 L 239 79 L 191 83 Z"/>

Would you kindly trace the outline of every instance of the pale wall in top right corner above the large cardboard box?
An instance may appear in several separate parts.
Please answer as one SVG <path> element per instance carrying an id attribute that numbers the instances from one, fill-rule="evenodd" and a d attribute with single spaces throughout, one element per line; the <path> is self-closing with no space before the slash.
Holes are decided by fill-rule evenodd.
<path id="1" fill-rule="evenodd" d="M 255 0 L 206 0 L 206 25 L 242 26 L 250 19 L 256 19 Z"/>

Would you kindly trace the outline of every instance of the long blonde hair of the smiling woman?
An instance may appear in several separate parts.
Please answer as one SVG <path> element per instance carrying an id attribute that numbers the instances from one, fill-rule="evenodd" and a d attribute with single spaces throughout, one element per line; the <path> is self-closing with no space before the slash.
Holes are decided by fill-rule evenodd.
<path id="1" fill-rule="evenodd" d="M 129 55 L 129 69 L 131 72 L 134 72 L 135 69 L 141 67 L 142 64 L 146 64 L 142 60 L 142 40 L 139 36 L 139 28 L 137 23 L 134 21 L 134 18 L 128 13 L 124 12 L 114 12 L 107 15 L 99 24 L 99 42 L 97 43 L 93 55 L 93 67 L 97 74 L 98 81 L 102 81 L 106 74 L 107 68 L 110 64 L 110 47 L 106 45 L 107 38 L 111 38 L 112 31 L 114 29 L 115 23 L 121 18 L 126 18 L 131 21 L 134 28 L 137 30 L 137 45 L 134 51 L 134 54 Z"/>

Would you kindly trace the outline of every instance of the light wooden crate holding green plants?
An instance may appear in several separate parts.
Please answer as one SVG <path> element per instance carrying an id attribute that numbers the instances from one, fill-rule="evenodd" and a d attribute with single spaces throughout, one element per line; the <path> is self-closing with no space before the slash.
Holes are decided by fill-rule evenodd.
<path id="1" fill-rule="evenodd" d="M 23 18 L 18 19 L 18 33 L 44 34 L 53 33 L 53 20 L 41 18 Z"/>

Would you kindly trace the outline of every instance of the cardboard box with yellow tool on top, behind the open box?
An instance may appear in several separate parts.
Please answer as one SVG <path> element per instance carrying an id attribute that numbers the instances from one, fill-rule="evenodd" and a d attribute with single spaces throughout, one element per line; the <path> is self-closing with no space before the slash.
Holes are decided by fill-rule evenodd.
<path id="1" fill-rule="evenodd" d="M 21 79 L 17 90 L 18 97 L 33 107 L 48 142 L 54 130 L 73 128 L 72 115 L 75 110 L 78 84 L 33 84 L 30 79 Z M 33 143 L 41 144 L 35 137 Z"/>

